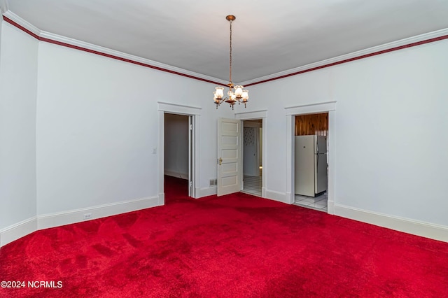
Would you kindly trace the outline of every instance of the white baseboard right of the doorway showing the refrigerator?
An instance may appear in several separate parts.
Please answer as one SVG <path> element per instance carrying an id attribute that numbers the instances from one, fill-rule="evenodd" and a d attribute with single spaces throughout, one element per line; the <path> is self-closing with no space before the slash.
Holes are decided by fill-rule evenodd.
<path id="1" fill-rule="evenodd" d="M 366 211 L 358 208 L 334 204 L 335 215 L 360 222 L 367 222 L 388 229 L 395 229 L 400 232 L 423 236 L 430 239 L 448 242 L 448 227 L 436 225 L 430 222 L 400 218 L 398 216 Z"/>

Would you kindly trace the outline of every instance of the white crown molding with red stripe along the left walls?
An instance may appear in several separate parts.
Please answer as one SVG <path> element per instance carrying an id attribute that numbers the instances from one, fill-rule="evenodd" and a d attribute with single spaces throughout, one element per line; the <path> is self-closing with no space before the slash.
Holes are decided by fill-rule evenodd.
<path id="1" fill-rule="evenodd" d="M 4 1 L 4 0 L 0 0 Z M 27 34 L 33 36 L 34 38 L 38 39 L 38 41 L 45 41 L 48 43 L 54 43 L 56 45 L 62 45 L 68 48 L 74 48 L 76 50 L 82 50 L 85 52 L 90 52 L 92 54 L 101 55 L 104 57 L 109 57 L 112 59 L 118 59 L 124 62 L 129 62 L 132 64 L 137 64 L 140 66 L 145 66 L 151 69 L 156 69 L 158 71 L 165 71 L 167 73 L 173 73 L 179 76 L 185 76 L 187 78 L 193 78 L 196 80 L 202 80 L 207 83 L 213 83 L 216 85 L 227 85 L 228 82 L 225 80 L 221 80 L 219 78 L 214 78 L 211 76 L 206 76 L 202 73 L 195 73 L 193 71 L 188 71 L 186 69 L 181 69 L 176 66 L 171 66 L 168 64 L 163 64 L 160 62 L 156 62 L 150 59 L 134 56 L 127 54 L 125 52 L 120 52 L 118 50 L 112 50 L 110 48 L 105 48 L 99 45 L 94 45 L 92 43 L 86 43 L 84 41 L 78 41 L 74 38 L 69 38 L 66 36 L 61 36 L 58 34 L 52 34 L 48 31 L 42 31 L 35 27 L 33 24 L 27 22 L 26 20 L 22 19 L 22 17 L 19 17 L 18 15 L 15 15 L 15 13 L 12 13 L 11 11 L 6 11 L 6 13 L 3 14 L 7 19 L 6 22 L 12 24 L 15 27 L 18 27 L 22 31 L 25 31 Z"/>

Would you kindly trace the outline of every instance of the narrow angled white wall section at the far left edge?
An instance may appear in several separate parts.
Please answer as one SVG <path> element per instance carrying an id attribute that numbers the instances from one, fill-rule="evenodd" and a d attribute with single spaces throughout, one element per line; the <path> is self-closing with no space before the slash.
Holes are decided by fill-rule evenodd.
<path id="1" fill-rule="evenodd" d="M 36 216 L 38 41 L 1 21 L 0 231 Z"/>

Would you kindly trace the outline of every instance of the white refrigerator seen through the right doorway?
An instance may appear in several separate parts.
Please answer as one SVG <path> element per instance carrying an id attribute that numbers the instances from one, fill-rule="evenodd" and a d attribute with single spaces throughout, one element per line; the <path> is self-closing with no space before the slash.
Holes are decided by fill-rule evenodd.
<path id="1" fill-rule="evenodd" d="M 295 194 L 315 197 L 327 185 L 326 137 L 295 136 Z"/>

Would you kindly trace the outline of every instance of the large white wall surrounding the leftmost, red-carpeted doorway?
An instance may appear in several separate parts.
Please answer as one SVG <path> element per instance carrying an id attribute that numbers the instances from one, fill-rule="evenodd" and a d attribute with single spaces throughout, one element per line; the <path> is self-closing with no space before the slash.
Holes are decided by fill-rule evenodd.
<path id="1" fill-rule="evenodd" d="M 38 215 L 157 197 L 158 101 L 203 107 L 200 185 L 216 177 L 213 85 L 50 43 L 38 62 Z"/>

